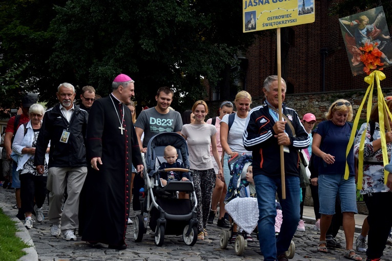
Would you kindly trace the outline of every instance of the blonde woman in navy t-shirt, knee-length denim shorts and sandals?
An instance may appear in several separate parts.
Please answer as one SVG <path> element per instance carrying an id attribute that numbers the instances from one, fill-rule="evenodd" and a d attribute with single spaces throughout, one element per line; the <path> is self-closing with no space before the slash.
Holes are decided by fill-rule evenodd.
<path id="1" fill-rule="evenodd" d="M 355 185 L 354 151 L 350 149 L 346 159 L 346 148 L 353 129 L 348 123 L 353 119 L 353 106 L 344 99 L 332 103 L 325 113 L 326 121 L 318 125 L 313 136 L 312 153 L 318 156 L 319 202 L 320 202 L 320 241 L 317 251 L 327 253 L 326 232 L 335 214 L 336 197 L 339 195 L 343 214 L 343 230 L 346 240 L 344 257 L 362 260 L 353 249 L 355 220 L 357 211 L 357 194 Z M 344 179 L 346 160 L 349 177 Z"/>

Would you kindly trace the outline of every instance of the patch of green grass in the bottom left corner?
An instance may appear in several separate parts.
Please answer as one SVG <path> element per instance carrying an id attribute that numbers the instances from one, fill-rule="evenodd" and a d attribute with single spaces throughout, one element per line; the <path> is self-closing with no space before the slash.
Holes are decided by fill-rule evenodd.
<path id="1" fill-rule="evenodd" d="M 4 214 L 0 208 L 0 259 L 4 261 L 16 261 L 26 255 L 23 251 L 26 245 L 16 233 L 15 222 Z"/>

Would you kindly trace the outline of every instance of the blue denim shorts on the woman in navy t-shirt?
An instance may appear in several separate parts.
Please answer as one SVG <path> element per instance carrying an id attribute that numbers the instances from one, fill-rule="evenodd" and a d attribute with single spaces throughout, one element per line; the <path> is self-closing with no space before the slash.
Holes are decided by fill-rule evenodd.
<path id="1" fill-rule="evenodd" d="M 339 195 L 343 212 L 358 213 L 357 189 L 354 176 L 347 180 L 344 175 L 319 175 L 320 214 L 335 214 L 336 197 Z"/>

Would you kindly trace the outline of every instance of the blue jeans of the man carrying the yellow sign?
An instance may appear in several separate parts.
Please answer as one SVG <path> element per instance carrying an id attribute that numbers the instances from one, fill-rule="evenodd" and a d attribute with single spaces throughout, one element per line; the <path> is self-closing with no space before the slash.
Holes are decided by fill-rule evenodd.
<path id="1" fill-rule="evenodd" d="M 256 175 L 253 177 L 256 185 L 257 202 L 259 206 L 259 242 L 264 260 L 277 260 L 290 247 L 291 240 L 299 222 L 300 186 L 299 178 L 285 177 L 286 199 L 282 200 L 281 179 Z M 275 194 L 278 192 L 282 207 L 283 222 L 280 233 L 275 240 Z"/>

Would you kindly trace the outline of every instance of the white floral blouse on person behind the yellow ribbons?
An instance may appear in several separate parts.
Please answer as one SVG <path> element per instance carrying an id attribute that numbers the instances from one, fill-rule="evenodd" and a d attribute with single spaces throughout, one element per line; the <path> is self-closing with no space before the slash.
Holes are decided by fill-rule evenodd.
<path id="1" fill-rule="evenodd" d="M 362 133 L 366 130 L 365 145 L 363 149 L 364 162 L 383 162 L 383 155 L 381 148 L 377 151 L 373 150 L 373 141 L 380 139 L 380 126 L 376 122 L 375 131 L 373 134 L 373 141 L 370 142 L 370 125 L 366 128 L 366 123 L 363 123 L 359 129 L 358 135 L 355 138 L 354 155 L 358 158 L 359 143 L 361 141 Z M 388 161 L 390 159 L 391 143 L 386 144 L 388 153 Z M 384 184 L 384 165 L 363 164 L 363 178 L 361 194 L 372 194 L 376 192 L 387 192 L 389 188 Z"/>

